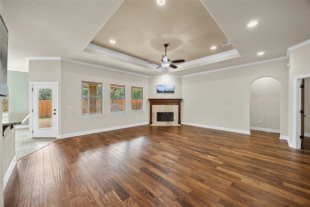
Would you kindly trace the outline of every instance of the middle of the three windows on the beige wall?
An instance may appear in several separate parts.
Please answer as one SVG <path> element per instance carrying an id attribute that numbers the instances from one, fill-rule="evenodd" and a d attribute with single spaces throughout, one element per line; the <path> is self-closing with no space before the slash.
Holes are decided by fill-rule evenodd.
<path id="1" fill-rule="evenodd" d="M 110 84 L 110 112 L 125 112 L 125 86 Z"/>

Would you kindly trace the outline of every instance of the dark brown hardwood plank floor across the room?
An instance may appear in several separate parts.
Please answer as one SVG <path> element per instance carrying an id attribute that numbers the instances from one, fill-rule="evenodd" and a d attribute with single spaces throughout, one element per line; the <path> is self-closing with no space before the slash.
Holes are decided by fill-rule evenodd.
<path id="1" fill-rule="evenodd" d="M 4 199 L 6 207 L 309 207 L 310 150 L 262 131 L 124 128 L 18 160 Z"/>

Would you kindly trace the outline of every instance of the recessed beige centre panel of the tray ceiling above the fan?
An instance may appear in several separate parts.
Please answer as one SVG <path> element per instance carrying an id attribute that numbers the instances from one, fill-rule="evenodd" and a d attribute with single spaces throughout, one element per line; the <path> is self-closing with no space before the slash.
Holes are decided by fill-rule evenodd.
<path id="1" fill-rule="evenodd" d="M 166 43 L 170 60 L 192 61 L 234 49 L 220 45 L 227 40 L 201 1 L 172 0 L 160 6 L 156 1 L 125 0 L 91 43 L 157 63 Z"/>

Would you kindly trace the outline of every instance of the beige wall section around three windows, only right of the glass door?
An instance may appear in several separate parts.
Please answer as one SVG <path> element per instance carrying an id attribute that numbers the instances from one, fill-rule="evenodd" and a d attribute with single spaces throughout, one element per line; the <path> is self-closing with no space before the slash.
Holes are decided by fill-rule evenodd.
<path id="1" fill-rule="evenodd" d="M 126 125 L 139 125 L 148 122 L 149 98 L 148 78 L 126 73 L 115 72 L 102 68 L 91 67 L 62 61 L 61 69 L 61 134 L 72 134 L 89 130 L 100 130 Z M 89 80 L 103 83 L 103 112 L 104 117 L 81 118 L 81 81 Z M 126 114 L 110 116 L 109 84 L 125 85 Z M 131 113 L 131 86 L 144 89 L 144 113 Z M 72 109 L 68 110 L 68 106 Z M 100 124 L 98 124 L 98 121 Z"/>

